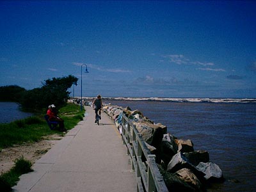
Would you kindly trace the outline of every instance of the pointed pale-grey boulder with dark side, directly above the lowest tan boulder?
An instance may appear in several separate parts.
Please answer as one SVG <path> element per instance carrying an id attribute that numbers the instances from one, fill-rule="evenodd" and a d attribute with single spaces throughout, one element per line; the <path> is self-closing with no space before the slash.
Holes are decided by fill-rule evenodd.
<path id="1" fill-rule="evenodd" d="M 181 152 L 178 152 L 175 154 L 175 156 L 172 157 L 170 163 L 167 166 L 167 171 L 175 173 L 182 168 L 188 168 L 191 170 L 198 179 L 203 180 L 204 179 L 204 173 L 200 172 L 193 164 L 189 163 L 188 159 L 182 154 Z"/>

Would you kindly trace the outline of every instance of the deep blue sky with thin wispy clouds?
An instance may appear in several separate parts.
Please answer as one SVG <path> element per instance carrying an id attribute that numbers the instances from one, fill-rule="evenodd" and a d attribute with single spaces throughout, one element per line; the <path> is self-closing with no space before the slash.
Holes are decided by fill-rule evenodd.
<path id="1" fill-rule="evenodd" d="M 85 63 L 84 97 L 256 97 L 256 1 L 0 1 L 0 28 L 0 86 L 80 96 Z"/>

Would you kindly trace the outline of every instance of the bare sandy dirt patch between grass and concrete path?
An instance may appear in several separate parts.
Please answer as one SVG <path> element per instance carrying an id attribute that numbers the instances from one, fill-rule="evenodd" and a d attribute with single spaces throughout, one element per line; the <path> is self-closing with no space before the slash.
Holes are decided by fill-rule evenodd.
<path id="1" fill-rule="evenodd" d="M 22 156 L 24 159 L 31 161 L 32 164 L 35 163 L 61 138 L 63 137 L 59 134 L 52 134 L 35 143 L 24 143 L 2 149 L 0 151 L 0 175 L 8 172 L 14 166 L 15 159 Z"/>

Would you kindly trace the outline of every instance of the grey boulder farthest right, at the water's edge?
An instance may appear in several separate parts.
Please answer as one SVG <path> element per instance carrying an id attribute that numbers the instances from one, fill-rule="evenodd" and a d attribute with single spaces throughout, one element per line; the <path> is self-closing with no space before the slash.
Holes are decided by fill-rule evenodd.
<path id="1" fill-rule="evenodd" d="M 204 178 L 207 181 L 210 182 L 223 182 L 224 177 L 223 173 L 220 169 L 220 167 L 212 162 L 207 162 L 207 163 L 199 163 L 198 166 L 196 166 L 198 170 L 201 172 L 205 173 Z"/>

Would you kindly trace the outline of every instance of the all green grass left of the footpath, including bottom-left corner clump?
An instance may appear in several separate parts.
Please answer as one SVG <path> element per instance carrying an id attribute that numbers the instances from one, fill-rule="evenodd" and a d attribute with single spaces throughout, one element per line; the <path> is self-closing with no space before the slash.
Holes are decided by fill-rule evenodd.
<path id="1" fill-rule="evenodd" d="M 44 119 L 45 112 L 40 115 L 11 122 L 10 124 L 0 124 L 0 152 L 1 148 L 36 142 L 42 140 L 43 136 L 50 134 L 63 134 L 62 132 L 51 131 L 49 129 Z M 83 120 L 84 111 L 80 110 L 80 106 L 67 104 L 67 106 L 59 110 L 59 116 L 65 121 L 65 128 L 72 129 L 78 122 Z M 19 170 L 24 170 L 24 168 L 25 170 L 29 170 L 28 166 L 30 168 L 31 163 L 27 162 L 23 157 L 16 159 L 15 167 L 10 172 L 0 175 L 0 189 L 6 188 L 6 191 L 8 191 L 19 180 L 19 176 L 22 173 L 26 173 Z"/>

